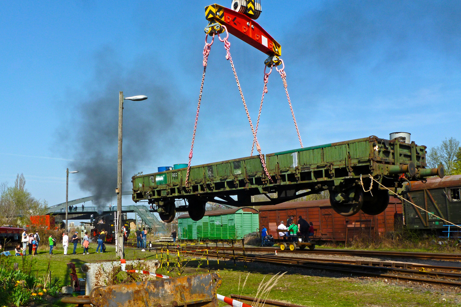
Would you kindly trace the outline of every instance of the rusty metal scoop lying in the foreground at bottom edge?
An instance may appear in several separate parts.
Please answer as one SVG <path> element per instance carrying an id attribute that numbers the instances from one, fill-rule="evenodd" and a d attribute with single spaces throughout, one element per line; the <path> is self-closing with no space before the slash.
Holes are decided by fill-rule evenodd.
<path id="1" fill-rule="evenodd" d="M 64 297 L 63 303 L 98 307 L 218 307 L 217 273 L 96 287 L 89 297 Z"/>

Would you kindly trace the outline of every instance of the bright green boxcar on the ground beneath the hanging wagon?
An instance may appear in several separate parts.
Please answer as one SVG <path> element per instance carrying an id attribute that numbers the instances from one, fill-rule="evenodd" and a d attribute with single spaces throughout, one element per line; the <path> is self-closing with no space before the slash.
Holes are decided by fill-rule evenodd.
<path id="1" fill-rule="evenodd" d="M 243 207 L 208 211 L 198 221 L 189 214 L 178 217 L 179 238 L 183 240 L 238 240 L 251 232 L 259 231 L 258 210 Z"/>

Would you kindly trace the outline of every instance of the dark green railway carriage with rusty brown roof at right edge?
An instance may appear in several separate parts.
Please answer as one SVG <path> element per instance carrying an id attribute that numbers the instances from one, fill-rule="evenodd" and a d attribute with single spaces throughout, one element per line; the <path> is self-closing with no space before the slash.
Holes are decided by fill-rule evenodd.
<path id="1" fill-rule="evenodd" d="M 404 195 L 415 205 L 430 213 L 403 202 L 404 223 L 408 229 L 441 229 L 445 220 L 461 225 L 461 175 L 444 178 L 432 177 L 427 182 L 412 181 L 410 191 Z"/>

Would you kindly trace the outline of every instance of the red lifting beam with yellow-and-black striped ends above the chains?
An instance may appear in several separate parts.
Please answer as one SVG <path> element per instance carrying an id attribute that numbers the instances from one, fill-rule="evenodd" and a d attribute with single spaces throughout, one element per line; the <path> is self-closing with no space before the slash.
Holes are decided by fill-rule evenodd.
<path id="1" fill-rule="evenodd" d="M 212 4 L 205 7 L 205 17 L 210 22 L 205 28 L 205 33 L 222 33 L 222 25 L 227 31 L 268 56 L 279 57 L 282 54 L 280 44 L 269 35 L 257 22 L 245 14 L 231 9 Z"/>

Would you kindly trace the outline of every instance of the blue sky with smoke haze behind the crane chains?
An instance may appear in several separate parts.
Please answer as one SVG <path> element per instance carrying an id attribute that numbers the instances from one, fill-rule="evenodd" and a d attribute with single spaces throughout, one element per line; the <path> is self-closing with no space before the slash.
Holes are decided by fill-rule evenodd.
<path id="1" fill-rule="evenodd" d="M 208 4 L 4 3 L 0 181 L 12 184 L 24 173 L 29 191 L 53 205 L 65 201 L 65 168 L 78 168 L 70 175 L 69 198 L 91 195 L 92 180 L 114 175 L 107 165 L 115 167 L 118 91 L 149 96 L 125 104 L 124 190 L 132 174 L 186 163 Z M 428 147 L 445 137 L 461 139 L 458 2 L 262 0 L 262 9 L 257 22 L 282 45 L 304 146 L 395 131 L 410 132 Z M 266 56 L 230 41 L 255 122 Z M 263 152 L 298 148 L 276 72 L 268 89 L 258 133 Z M 215 42 L 193 164 L 248 156 L 251 144 L 223 44 Z M 108 180 L 104 188 L 112 185 Z"/>

